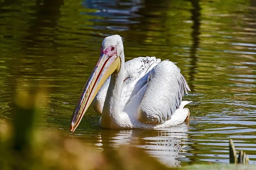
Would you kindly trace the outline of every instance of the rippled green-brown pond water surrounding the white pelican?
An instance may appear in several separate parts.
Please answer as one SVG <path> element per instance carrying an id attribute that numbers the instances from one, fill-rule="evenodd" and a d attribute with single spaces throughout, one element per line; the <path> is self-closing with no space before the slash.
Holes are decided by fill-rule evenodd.
<path id="1" fill-rule="evenodd" d="M 70 116 L 101 41 L 119 34 L 126 60 L 177 62 L 189 122 L 155 130 L 99 128 L 90 107 L 74 138 L 100 150 L 143 148 L 170 166 L 228 162 L 228 140 L 256 163 L 256 1 L 0 1 L 0 119 L 20 84 L 48 88 L 41 124 L 70 135 Z"/>

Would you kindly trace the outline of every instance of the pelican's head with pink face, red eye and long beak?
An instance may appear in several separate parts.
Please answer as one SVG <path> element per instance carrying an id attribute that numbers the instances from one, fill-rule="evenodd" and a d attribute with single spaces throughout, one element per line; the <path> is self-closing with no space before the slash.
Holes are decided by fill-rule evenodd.
<path id="1" fill-rule="evenodd" d="M 104 38 L 101 54 L 93 72 L 87 80 L 71 117 L 70 130 L 75 131 L 84 113 L 90 106 L 101 86 L 112 73 L 118 73 L 121 65 L 120 55 L 123 53 L 123 42 L 120 35 Z M 121 55 L 123 56 L 123 55 Z"/>

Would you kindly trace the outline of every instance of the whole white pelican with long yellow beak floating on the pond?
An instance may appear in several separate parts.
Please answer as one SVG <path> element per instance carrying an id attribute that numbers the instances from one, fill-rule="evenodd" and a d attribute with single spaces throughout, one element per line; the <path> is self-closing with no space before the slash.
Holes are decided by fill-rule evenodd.
<path id="1" fill-rule="evenodd" d="M 189 117 L 182 101 L 190 88 L 175 63 L 156 57 L 125 62 L 120 35 L 104 38 L 101 55 L 87 80 L 71 118 L 75 131 L 92 103 L 102 113 L 99 126 L 150 129 L 181 124 Z"/>

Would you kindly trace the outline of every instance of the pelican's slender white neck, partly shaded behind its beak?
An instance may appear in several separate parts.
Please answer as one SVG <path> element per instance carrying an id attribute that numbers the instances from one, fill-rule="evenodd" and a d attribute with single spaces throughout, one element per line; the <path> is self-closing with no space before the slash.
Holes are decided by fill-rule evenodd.
<path id="1" fill-rule="evenodd" d="M 117 122 L 121 113 L 120 100 L 122 95 L 122 84 L 124 81 L 124 52 L 120 55 L 120 69 L 118 73 L 112 73 L 109 83 L 109 88 L 106 94 L 102 117 L 101 117 L 101 127 L 108 128 Z"/>

